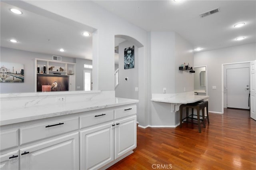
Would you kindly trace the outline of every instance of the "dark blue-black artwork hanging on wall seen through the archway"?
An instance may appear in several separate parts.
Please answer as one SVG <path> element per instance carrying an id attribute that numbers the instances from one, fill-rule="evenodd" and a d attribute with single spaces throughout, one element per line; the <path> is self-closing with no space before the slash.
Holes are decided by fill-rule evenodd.
<path id="1" fill-rule="evenodd" d="M 124 69 L 134 68 L 134 45 L 124 49 Z"/>

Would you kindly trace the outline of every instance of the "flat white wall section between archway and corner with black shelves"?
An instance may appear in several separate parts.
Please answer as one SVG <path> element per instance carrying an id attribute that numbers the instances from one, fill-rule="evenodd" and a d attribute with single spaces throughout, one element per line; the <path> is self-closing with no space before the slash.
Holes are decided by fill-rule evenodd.
<path id="1" fill-rule="evenodd" d="M 175 32 L 150 32 L 151 92 L 175 93 Z"/>

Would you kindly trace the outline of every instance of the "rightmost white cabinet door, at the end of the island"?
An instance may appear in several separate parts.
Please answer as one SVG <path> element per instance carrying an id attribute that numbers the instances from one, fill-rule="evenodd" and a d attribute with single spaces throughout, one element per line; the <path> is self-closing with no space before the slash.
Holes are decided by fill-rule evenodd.
<path id="1" fill-rule="evenodd" d="M 115 159 L 137 146 L 136 115 L 115 121 Z"/>

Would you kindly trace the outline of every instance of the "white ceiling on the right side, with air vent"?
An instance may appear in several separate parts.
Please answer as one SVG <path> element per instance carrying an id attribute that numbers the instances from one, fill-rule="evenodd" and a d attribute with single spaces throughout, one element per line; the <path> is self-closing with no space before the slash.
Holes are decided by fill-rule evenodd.
<path id="1" fill-rule="evenodd" d="M 147 31 L 174 31 L 202 51 L 256 42 L 255 0 L 96 0 L 95 3 Z M 220 8 L 200 18 L 199 14 Z M 234 28 L 234 24 L 245 26 Z M 244 36 L 242 41 L 235 38 Z"/>

